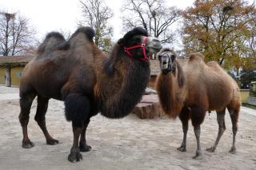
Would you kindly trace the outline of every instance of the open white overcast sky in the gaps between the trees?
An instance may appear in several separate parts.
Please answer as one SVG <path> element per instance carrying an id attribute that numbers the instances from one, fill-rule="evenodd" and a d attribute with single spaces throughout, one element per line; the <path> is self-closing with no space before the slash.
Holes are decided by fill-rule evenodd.
<path id="1" fill-rule="evenodd" d="M 114 40 L 122 37 L 121 11 L 123 0 L 106 0 L 114 11 L 110 24 L 114 26 Z M 168 6 L 184 9 L 191 6 L 194 0 L 166 0 Z M 9 13 L 19 12 L 30 19 L 31 26 L 38 32 L 38 38 L 53 30 L 73 33 L 82 16 L 79 0 L 0 0 L 0 10 Z"/>

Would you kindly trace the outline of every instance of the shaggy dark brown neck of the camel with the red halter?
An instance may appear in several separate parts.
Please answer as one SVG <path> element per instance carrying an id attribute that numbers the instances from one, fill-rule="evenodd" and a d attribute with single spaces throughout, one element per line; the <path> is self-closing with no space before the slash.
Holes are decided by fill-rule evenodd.
<path id="1" fill-rule="evenodd" d="M 150 80 L 150 65 L 138 60 L 125 60 L 115 68 L 112 77 L 100 83 L 100 111 L 108 118 L 126 117 L 141 100 Z"/>

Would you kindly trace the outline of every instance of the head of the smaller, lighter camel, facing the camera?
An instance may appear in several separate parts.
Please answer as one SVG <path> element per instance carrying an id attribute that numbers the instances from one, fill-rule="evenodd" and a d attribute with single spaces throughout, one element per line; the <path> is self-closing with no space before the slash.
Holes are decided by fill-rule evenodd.
<path id="1" fill-rule="evenodd" d="M 176 69 L 176 53 L 172 49 L 162 49 L 158 54 L 162 73 L 174 72 Z"/>

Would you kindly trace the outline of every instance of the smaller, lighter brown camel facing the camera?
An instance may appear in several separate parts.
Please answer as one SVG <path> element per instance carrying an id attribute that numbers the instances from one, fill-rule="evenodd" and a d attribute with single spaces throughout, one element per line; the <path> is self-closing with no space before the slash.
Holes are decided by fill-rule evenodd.
<path id="1" fill-rule="evenodd" d="M 238 115 L 241 101 L 237 83 L 215 61 L 207 64 L 200 53 L 190 54 L 189 61 L 181 67 L 176 54 L 171 49 L 158 53 L 162 73 L 157 79 L 157 91 L 164 112 L 182 121 L 183 141 L 179 151 L 186 152 L 186 133 L 191 119 L 197 139 L 194 158 L 202 157 L 200 147 L 200 125 L 206 111 L 216 110 L 218 136 L 214 145 L 206 150 L 214 152 L 226 129 L 224 117 L 226 108 L 230 112 L 233 125 L 233 144 L 231 153 L 236 152 L 235 136 L 238 131 Z"/>

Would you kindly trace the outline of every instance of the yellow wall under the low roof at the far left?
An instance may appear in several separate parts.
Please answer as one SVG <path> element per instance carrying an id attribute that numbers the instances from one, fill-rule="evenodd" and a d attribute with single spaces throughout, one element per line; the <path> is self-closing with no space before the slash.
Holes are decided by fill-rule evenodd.
<path id="1" fill-rule="evenodd" d="M 19 85 L 24 67 L 14 67 L 10 70 L 11 85 Z M 5 85 L 6 68 L 0 68 L 0 84 Z"/>

